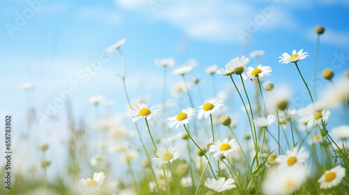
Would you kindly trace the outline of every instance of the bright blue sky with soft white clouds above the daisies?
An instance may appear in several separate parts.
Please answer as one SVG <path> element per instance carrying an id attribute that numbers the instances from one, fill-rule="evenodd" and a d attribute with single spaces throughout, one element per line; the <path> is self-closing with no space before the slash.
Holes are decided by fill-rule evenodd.
<path id="1" fill-rule="evenodd" d="M 37 9 L 34 10 L 33 3 L 29 2 L 34 2 Z M 150 3 L 158 7 L 151 7 Z M 336 55 L 349 56 L 349 24 L 346 21 L 349 1 L 346 0 L 4 0 L 0 5 L 0 63 L 3 68 L 0 88 L 8 94 L 1 98 L 1 102 L 8 102 L 2 104 L 1 113 L 23 109 L 25 95 L 17 86 L 27 81 L 34 84 L 34 104 L 38 111 L 43 111 L 58 91 L 79 81 L 77 72 L 91 65 L 103 49 L 121 38 L 126 38 L 122 49 L 128 63 L 131 97 L 149 93 L 152 104 L 161 101 L 157 94 L 161 93 L 162 70 L 154 65 L 156 58 L 172 56 L 177 66 L 188 59 L 197 60 L 198 67 L 190 77 L 200 76 L 206 80 L 205 92 L 205 88 L 211 91 L 209 77 L 204 72 L 207 66 L 223 67 L 235 56 L 248 56 L 253 50 L 264 49 L 265 55 L 260 61 L 273 68 L 270 80 L 288 84 L 297 95 L 301 93 L 299 89 L 304 90 L 302 80 L 294 65 L 281 65 L 278 57 L 293 49 L 309 52 L 310 57 L 299 62 L 299 67 L 304 77 L 310 79 L 315 62 L 313 29 L 316 25 L 326 28 L 320 37 L 319 70 L 331 67 Z M 33 15 L 30 9 L 34 10 Z M 17 13 L 29 15 L 21 26 L 16 24 Z M 253 32 L 248 31 L 251 21 L 257 27 Z M 15 25 L 17 29 L 9 31 L 8 25 Z M 249 33 L 250 37 L 239 38 L 241 31 Z M 250 65 L 254 63 L 252 60 Z M 348 69 L 348 62 L 336 66 L 335 71 L 343 75 L 345 69 Z M 115 111 L 124 110 L 126 100 L 121 81 L 116 77 L 122 71 L 121 59 L 114 54 L 88 84 L 81 84 L 80 92 L 72 100 L 77 116 L 90 111 L 88 98 L 97 94 L 115 100 Z M 217 75 L 216 78 L 219 89 L 230 84 L 226 77 Z M 170 76 L 169 79 L 171 84 L 180 77 Z"/>

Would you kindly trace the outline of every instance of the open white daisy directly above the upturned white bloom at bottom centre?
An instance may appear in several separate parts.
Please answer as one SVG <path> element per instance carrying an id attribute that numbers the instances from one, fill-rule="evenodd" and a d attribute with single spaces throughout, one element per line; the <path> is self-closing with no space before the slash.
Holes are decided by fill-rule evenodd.
<path id="1" fill-rule="evenodd" d="M 223 143 L 219 140 L 209 146 L 209 153 L 214 153 L 216 159 L 221 157 L 228 157 L 229 154 L 234 153 L 239 149 L 239 144 L 235 139 L 224 139 Z"/>

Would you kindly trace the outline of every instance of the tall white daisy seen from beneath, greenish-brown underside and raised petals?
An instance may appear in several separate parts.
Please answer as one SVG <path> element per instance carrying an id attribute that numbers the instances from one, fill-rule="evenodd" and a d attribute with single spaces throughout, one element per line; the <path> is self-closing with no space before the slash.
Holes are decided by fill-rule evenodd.
<path id="1" fill-rule="evenodd" d="M 246 58 L 245 56 L 242 56 L 241 59 L 239 57 L 236 57 L 235 59 L 231 59 L 225 65 L 225 70 L 223 68 L 220 68 L 219 70 L 217 70 L 217 74 L 225 75 L 225 76 L 230 76 L 232 74 L 242 75 L 242 73 L 245 71 L 244 66 L 249 61 L 250 59 Z"/>

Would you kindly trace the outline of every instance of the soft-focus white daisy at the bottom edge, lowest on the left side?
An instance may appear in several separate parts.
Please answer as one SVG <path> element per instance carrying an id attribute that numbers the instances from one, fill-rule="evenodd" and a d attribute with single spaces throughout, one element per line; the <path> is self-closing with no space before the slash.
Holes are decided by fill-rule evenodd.
<path id="1" fill-rule="evenodd" d="M 104 173 L 99 172 L 94 173 L 94 178 L 92 180 L 90 178 L 87 178 L 86 180 L 81 179 L 79 181 L 81 187 L 80 192 L 82 192 L 82 194 L 91 194 L 93 192 L 96 192 L 98 188 L 103 184 L 104 178 Z"/>

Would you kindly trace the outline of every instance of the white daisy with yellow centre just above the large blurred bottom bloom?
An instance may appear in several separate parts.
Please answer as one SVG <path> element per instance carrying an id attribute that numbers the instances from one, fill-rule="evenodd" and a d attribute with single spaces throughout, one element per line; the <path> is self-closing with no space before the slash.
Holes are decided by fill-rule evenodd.
<path id="1" fill-rule="evenodd" d="M 303 164 L 306 159 L 309 157 L 309 153 L 304 151 L 305 148 L 293 148 L 293 150 L 288 150 L 286 155 L 279 155 L 275 159 L 277 163 L 279 163 L 279 167 L 288 167 L 294 166 L 297 164 Z"/>

